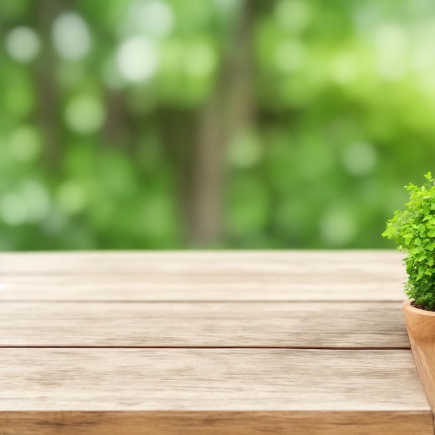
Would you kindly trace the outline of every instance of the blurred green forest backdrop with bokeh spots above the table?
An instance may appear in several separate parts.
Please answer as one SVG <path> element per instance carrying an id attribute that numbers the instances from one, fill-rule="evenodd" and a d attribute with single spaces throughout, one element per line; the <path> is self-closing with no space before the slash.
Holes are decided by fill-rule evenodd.
<path id="1" fill-rule="evenodd" d="M 0 249 L 393 247 L 429 0 L 0 2 Z"/>

